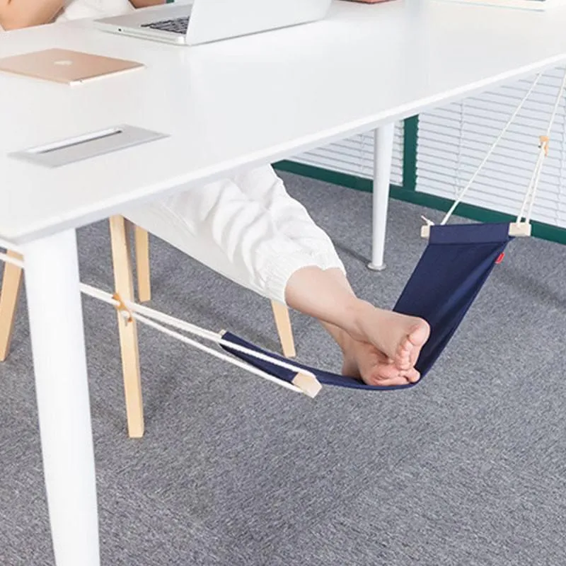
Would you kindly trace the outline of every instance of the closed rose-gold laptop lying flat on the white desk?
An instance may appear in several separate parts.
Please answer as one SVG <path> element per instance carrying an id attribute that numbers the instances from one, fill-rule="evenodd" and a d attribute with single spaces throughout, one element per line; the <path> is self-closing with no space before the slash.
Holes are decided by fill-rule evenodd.
<path id="1" fill-rule="evenodd" d="M 67 84 L 83 83 L 142 67 L 143 64 L 134 61 L 64 49 L 48 49 L 0 59 L 0 71 Z"/>

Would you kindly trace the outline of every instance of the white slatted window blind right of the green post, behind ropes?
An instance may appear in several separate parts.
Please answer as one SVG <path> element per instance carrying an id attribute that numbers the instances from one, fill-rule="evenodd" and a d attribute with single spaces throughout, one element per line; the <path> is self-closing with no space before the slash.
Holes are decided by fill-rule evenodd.
<path id="1" fill-rule="evenodd" d="M 518 214 L 565 69 L 545 72 L 463 202 Z M 534 76 L 419 117 L 417 191 L 454 200 L 473 175 Z M 533 220 L 566 227 L 565 108 L 561 101 L 533 206 Z"/>

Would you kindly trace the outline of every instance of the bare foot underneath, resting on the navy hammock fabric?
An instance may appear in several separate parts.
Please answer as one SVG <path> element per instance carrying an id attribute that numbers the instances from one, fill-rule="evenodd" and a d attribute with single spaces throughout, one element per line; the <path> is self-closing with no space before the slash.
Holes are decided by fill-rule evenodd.
<path id="1" fill-rule="evenodd" d="M 342 375 L 361 378 L 372 386 L 406 385 L 420 379 L 414 367 L 399 369 L 374 345 L 358 342 L 347 334 L 342 335 L 339 343 L 344 355 Z"/>

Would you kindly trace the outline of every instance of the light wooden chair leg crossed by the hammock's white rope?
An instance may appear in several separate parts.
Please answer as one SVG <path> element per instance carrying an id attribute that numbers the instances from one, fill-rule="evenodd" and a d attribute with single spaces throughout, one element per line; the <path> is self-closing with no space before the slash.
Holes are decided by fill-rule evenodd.
<path id="1" fill-rule="evenodd" d="M 122 299 L 134 301 L 134 276 L 128 226 L 129 222 L 123 216 L 110 218 L 115 290 Z M 128 434 L 131 438 L 141 438 L 144 435 L 144 404 L 141 396 L 136 321 L 127 322 L 122 315 L 118 314 L 118 329 L 120 331 Z"/>

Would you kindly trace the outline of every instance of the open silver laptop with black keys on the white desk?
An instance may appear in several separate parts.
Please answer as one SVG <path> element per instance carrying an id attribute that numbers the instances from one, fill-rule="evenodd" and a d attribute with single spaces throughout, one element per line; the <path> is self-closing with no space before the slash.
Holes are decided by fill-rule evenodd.
<path id="1" fill-rule="evenodd" d="M 194 0 L 96 21 L 112 33 L 197 45 L 324 18 L 332 0 Z"/>

